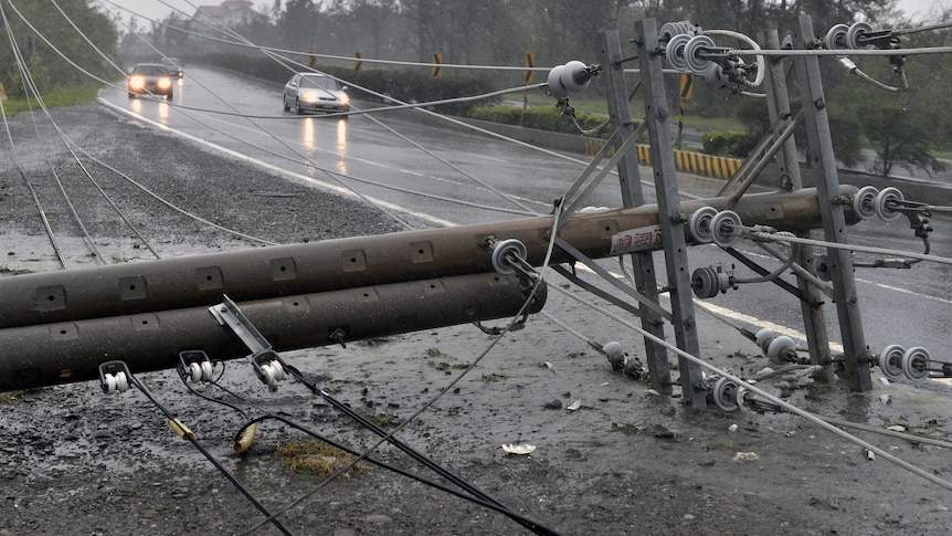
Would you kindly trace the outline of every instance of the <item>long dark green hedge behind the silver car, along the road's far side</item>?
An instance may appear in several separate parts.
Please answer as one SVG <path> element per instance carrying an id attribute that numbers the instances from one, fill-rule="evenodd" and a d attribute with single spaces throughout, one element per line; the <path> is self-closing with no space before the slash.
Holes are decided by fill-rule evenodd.
<path id="1" fill-rule="evenodd" d="M 252 57 L 241 54 L 205 54 L 197 59 L 197 61 L 281 84 L 290 78 L 292 72 L 305 71 L 304 67 L 296 64 L 282 65 L 269 57 Z M 383 102 L 384 99 L 361 92 L 358 90 L 358 86 L 410 103 L 458 98 L 494 91 L 489 78 L 485 76 L 452 75 L 434 78 L 430 75 L 429 70 L 425 72 L 420 70 L 382 69 L 355 71 L 350 67 L 330 65 L 316 65 L 315 69 L 347 81 L 347 85 L 350 86 L 349 93 L 351 97 L 371 102 Z M 473 102 L 441 104 L 431 106 L 431 109 L 441 114 L 467 115 L 476 106 L 485 106 L 487 104 L 495 104 L 496 102 L 498 102 L 498 98 L 485 98 Z"/>

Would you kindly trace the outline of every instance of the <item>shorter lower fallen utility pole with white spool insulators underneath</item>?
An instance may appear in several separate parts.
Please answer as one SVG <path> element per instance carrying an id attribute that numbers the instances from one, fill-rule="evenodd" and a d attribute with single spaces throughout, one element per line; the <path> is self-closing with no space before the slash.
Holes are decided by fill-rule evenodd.
<path id="1" fill-rule="evenodd" d="M 515 275 L 423 280 L 241 304 L 277 351 L 510 318 L 529 297 Z M 221 296 L 219 296 L 221 299 Z M 546 288 L 526 313 L 538 313 Z M 120 359 L 136 372 L 174 368 L 180 351 L 211 359 L 250 354 L 209 307 L 0 329 L 0 391 L 85 381 L 101 362 Z"/>

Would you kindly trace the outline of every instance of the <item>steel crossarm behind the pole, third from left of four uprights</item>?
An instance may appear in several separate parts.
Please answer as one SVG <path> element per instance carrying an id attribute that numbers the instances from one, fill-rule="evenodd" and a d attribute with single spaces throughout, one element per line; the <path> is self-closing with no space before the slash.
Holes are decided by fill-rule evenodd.
<path id="1" fill-rule="evenodd" d="M 780 49 L 780 36 L 776 30 L 764 32 L 764 43 L 768 49 Z M 769 69 L 764 82 L 766 85 L 766 104 L 770 119 L 779 120 L 781 117 L 790 117 L 790 95 L 786 92 L 786 73 L 784 72 L 783 61 L 780 59 L 768 60 Z M 803 111 L 801 111 L 803 114 Z M 790 119 L 786 119 L 790 123 Z M 776 161 L 780 165 L 781 177 L 790 178 L 790 185 L 794 190 L 803 188 L 803 178 L 800 175 L 800 160 L 796 156 L 796 143 L 793 138 L 789 138 L 783 143 L 783 148 L 776 155 Z M 798 237 L 810 238 L 810 231 L 797 233 Z M 812 276 L 816 276 L 816 263 L 813 256 L 812 245 L 802 245 L 800 248 L 800 259 L 797 264 L 807 271 Z M 813 365 L 826 365 L 819 376 L 819 380 L 824 382 L 833 381 L 833 366 L 829 362 L 829 336 L 826 332 L 826 315 L 823 313 L 823 296 L 819 288 L 813 285 L 807 277 L 797 274 L 796 286 L 800 288 L 802 298 L 800 302 L 801 314 L 803 315 L 803 326 L 806 333 L 806 344 L 810 348 L 810 362 Z"/>

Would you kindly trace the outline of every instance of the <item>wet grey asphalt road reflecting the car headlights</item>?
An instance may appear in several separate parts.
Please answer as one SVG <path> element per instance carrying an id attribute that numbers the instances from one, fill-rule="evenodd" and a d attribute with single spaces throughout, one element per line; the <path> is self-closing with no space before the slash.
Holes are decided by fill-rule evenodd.
<path id="1" fill-rule="evenodd" d="M 359 98 L 356 92 L 351 95 Z M 110 90 L 104 93 L 103 101 L 123 113 L 213 144 L 213 150 L 233 151 L 236 158 L 260 161 L 316 187 L 348 195 L 359 191 L 394 213 L 411 212 L 434 225 L 508 220 L 528 211 L 544 213 L 583 169 L 581 164 L 498 140 L 424 126 L 408 118 L 411 112 L 394 116 L 298 117 L 282 112 L 279 85 L 201 67 L 187 70 L 176 91 L 172 102 L 176 106 L 129 99 L 125 92 Z M 360 107 L 360 103 L 356 106 Z M 205 109 L 257 118 L 200 112 Z M 650 177 L 650 170 L 643 168 L 642 177 Z M 719 181 L 699 177 L 683 176 L 679 180 L 683 190 L 699 196 L 711 196 L 720 186 Z M 518 202 L 503 199 L 494 189 L 514 196 Z M 646 191 L 646 198 L 653 202 L 654 192 Z M 591 204 L 621 204 L 617 186 L 611 178 L 594 192 Z M 932 224 L 935 231 L 931 253 L 949 255 L 952 223 L 934 218 Z M 814 235 L 819 237 L 821 233 Z M 923 251 L 905 219 L 888 224 L 874 220 L 854 225 L 849 240 L 864 245 Z M 762 260 L 766 267 L 775 267 L 774 261 L 763 258 L 759 248 L 749 243 L 739 245 Z M 855 255 L 856 261 L 876 258 Z M 658 274 L 665 273 L 662 262 L 663 255 L 656 255 Z M 734 264 L 732 258 L 715 246 L 691 249 L 690 262 L 691 269 Z M 611 266 L 617 267 L 615 263 Z M 912 270 L 857 270 L 866 340 L 874 351 L 899 344 L 922 346 L 937 358 L 945 357 L 952 317 L 952 282 L 948 274 L 948 265 L 935 263 L 920 263 Z M 750 273 L 741 267 L 737 275 Z M 733 312 L 736 318 L 742 318 L 740 314 L 747 315 L 748 320 L 752 317 L 754 325 L 769 322 L 802 332 L 800 306 L 792 297 L 778 293 L 773 285 L 745 285 L 711 301 Z M 826 317 L 831 339 L 839 340 L 833 306 L 826 307 Z"/>

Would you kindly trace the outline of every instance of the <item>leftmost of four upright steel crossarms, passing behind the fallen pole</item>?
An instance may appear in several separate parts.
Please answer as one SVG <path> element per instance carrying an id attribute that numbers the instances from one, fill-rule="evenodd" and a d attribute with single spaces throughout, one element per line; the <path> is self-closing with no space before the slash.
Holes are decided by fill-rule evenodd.
<path id="1" fill-rule="evenodd" d="M 639 207 L 645 203 L 642 192 L 642 178 L 638 171 L 638 155 L 634 145 L 626 144 L 637 136 L 632 125 L 632 112 L 628 106 L 628 90 L 625 83 L 625 71 L 622 55 L 622 43 L 618 32 L 606 31 L 602 34 L 602 61 L 605 65 L 603 75 L 609 98 L 609 115 L 612 127 L 623 135 L 622 146 L 626 146 L 624 158 L 618 161 L 618 177 L 622 186 L 622 202 L 625 207 Z M 641 130 L 641 128 L 638 129 Z M 615 146 L 621 150 L 618 145 Z M 638 294 L 647 302 L 658 303 L 658 284 L 655 280 L 655 262 L 650 252 L 633 253 L 635 286 Z M 662 316 L 644 303 L 641 304 L 642 329 L 660 339 L 665 338 L 665 325 Z M 648 362 L 648 377 L 652 388 L 658 392 L 671 393 L 671 372 L 668 365 L 668 354 L 664 346 L 645 338 L 645 360 Z"/>

